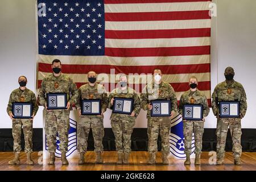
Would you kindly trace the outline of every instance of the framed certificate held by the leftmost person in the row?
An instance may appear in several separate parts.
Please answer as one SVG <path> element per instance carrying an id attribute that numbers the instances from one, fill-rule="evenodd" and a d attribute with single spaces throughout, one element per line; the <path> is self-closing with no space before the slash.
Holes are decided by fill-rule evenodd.
<path id="1" fill-rule="evenodd" d="M 32 103 L 13 102 L 13 115 L 15 119 L 32 118 Z"/>

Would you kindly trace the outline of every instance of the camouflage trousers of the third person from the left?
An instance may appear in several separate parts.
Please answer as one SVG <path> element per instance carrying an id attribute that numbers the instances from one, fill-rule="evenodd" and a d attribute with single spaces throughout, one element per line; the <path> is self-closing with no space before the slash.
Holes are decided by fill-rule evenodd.
<path id="1" fill-rule="evenodd" d="M 93 140 L 94 140 L 94 151 L 103 152 L 102 139 L 104 137 L 104 125 L 103 117 L 93 116 L 93 117 L 80 117 L 79 123 L 77 125 L 77 139 L 78 146 L 77 150 L 79 153 L 87 151 L 87 140 L 90 128 L 92 128 Z"/>

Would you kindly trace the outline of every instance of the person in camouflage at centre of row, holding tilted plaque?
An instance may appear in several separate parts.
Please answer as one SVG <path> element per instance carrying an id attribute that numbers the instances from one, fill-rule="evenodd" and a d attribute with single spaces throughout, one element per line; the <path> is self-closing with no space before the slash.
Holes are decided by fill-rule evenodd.
<path id="1" fill-rule="evenodd" d="M 133 112 L 131 115 L 112 113 L 111 126 L 115 135 L 115 147 L 118 154 L 117 164 L 128 164 L 129 154 L 131 152 L 131 133 L 135 125 L 135 118 L 141 110 L 141 102 L 134 89 L 127 86 L 126 75 L 119 77 L 119 87 L 114 89 L 109 96 L 109 109 L 113 108 L 114 97 L 132 98 Z"/>

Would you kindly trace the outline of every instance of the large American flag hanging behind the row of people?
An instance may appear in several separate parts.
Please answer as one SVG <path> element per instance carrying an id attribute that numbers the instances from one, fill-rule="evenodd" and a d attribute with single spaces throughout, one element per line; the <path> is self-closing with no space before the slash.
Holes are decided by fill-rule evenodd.
<path id="1" fill-rule="evenodd" d="M 194 75 L 210 103 L 209 4 L 208 0 L 38 0 L 38 87 L 52 73 L 53 59 L 61 60 L 62 72 L 78 87 L 88 82 L 91 70 L 139 76 L 160 68 L 178 99 Z M 116 82 L 110 80 L 110 86 Z M 141 92 L 144 84 L 135 82 L 134 88 Z"/>

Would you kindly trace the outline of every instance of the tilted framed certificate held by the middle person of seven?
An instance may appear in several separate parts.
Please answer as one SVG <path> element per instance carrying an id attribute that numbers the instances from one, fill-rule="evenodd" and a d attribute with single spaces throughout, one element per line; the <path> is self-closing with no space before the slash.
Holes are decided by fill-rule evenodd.
<path id="1" fill-rule="evenodd" d="M 132 98 L 114 97 L 113 113 L 131 114 L 133 112 L 133 102 Z"/>

